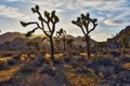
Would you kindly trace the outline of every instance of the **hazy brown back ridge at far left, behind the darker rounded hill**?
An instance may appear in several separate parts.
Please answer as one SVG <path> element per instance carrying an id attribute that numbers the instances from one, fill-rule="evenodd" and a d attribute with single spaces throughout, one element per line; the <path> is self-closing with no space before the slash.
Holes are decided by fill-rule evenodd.
<path id="1" fill-rule="evenodd" d="M 20 32 L 6 32 L 3 34 L 0 34 L 0 44 L 6 41 L 12 42 L 15 38 L 25 38 L 25 34 Z"/>

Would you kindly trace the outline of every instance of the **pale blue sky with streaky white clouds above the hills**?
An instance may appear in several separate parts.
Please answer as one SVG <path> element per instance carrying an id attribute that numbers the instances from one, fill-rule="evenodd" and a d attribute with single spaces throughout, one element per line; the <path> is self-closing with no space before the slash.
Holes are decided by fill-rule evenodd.
<path id="1" fill-rule="evenodd" d="M 89 12 L 91 18 L 98 18 L 98 27 L 90 35 L 100 42 L 116 35 L 130 25 L 130 0 L 0 0 L 1 33 L 26 33 L 31 30 L 35 26 L 24 28 L 20 20 L 37 22 L 38 15 L 30 10 L 36 4 L 40 6 L 41 13 L 55 10 L 60 18 L 56 30 L 63 28 L 75 37 L 83 35 L 81 29 L 72 24 L 81 13 Z M 41 34 L 41 31 L 35 33 Z"/>

